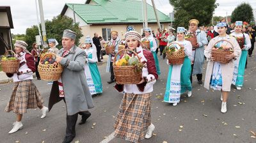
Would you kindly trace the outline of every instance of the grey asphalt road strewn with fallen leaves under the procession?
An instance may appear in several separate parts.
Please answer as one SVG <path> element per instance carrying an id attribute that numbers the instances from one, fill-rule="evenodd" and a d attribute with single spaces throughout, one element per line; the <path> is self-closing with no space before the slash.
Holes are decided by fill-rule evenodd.
<path id="1" fill-rule="evenodd" d="M 248 57 L 244 87 L 240 91 L 232 87 L 227 103 L 228 112 L 222 114 L 220 112 L 221 93 L 207 91 L 196 83 L 196 77 L 193 80 L 193 96 L 187 98 L 186 94 L 182 95 L 182 101 L 177 107 L 163 103 L 168 66 L 166 61 L 159 56 L 162 74 L 154 85 L 151 114 L 152 123 L 156 129 L 151 139 L 145 139 L 142 142 L 255 143 L 256 139 L 253 139 L 252 133 L 250 133 L 250 131 L 256 132 L 255 57 L 255 55 Z M 114 131 L 113 123 L 122 100 L 122 94 L 113 89 L 114 84 L 106 83 L 109 80 L 109 73 L 106 73 L 105 69 L 106 64 L 99 66 L 104 93 L 93 97 L 95 107 L 90 110 L 92 116 L 86 124 L 77 124 L 76 138 L 73 142 L 99 143 Z M 34 82 L 47 105 L 51 86 L 43 80 L 34 80 Z M 0 84 L 0 142 L 62 142 L 66 127 L 66 109 L 63 102 L 56 104 L 44 119 L 40 119 L 39 109 L 28 110 L 22 119 L 24 128 L 19 132 L 8 134 L 12 129 L 12 123 L 15 122 L 15 114 L 4 112 L 4 108 L 10 98 L 12 88 L 13 83 Z M 78 120 L 80 119 L 81 117 Z M 115 138 L 109 142 L 125 141 Z"/>

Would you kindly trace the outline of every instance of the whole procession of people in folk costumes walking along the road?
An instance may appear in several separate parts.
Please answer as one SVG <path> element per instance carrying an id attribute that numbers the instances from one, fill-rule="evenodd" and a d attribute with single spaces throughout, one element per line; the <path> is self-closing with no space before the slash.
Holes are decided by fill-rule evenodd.
<path id="1" fill-rule="evenodd" d="M 142 139 L 150 139 L 155 129 L 150 118 L 151 98 L 154 91 L 154 84 L 161 75 L 161 66 L 157 56 L 158 49 L 161 58 L 166 58 L 165 47 L 173 43 L 179 45 L 177 49 L 184 50 L 185 57 L 182 64 L 171 64 L 167 59 L 168 75 L 166 77 L 166 91 L 164 102 L 172 103 L 176 106 L 180 102 L 180 94 L 186 93 L 188 97 L 192 95 L 192 77 L 196 75 L 197 83 L 203 84 L 203 64 L 206 59 L 207 69 L 205 73 L 204 87 L 221 91 L 221 112 L 227 112 L 228 95 L 231 85 L 237 89 L 243 87 L 244 68 L 246 68 L 247 56 L 251 57 L 254 42 L 255 30 L 252 26 L 243 26 L 243 22 L 237 21 L 230 24 L 224 20 L 216 26 L 198 27 L 200 22 L 191 19 L 188 22 L 189 29 L 177 27 L 176 33 L 173 29 L 154 31 L 150 27 L 145 27 L 143 34 L 136 31 L 125 33 L 125 40 L 120 40 L 118 31 L 111 31 L 109 45 L 115 47 L 108 55 L 106 72 L 110 73 L 108 84 L 115 81 L 113 60 L 118 52 L 121 42 L 125 48 L 131 49 L 140 57 L 143 63 L 142 77 L 138 84 L 118 84 L 114 88 L 123 93 L 122 102 L 116 116 L 114 124 L 115 137 L 122 138 L 130 142 L 140 142 Z M 196 44 L 186 39 L 186 35 L 191 34 L 196 38 Z M 147 38 L 150 47 L 147 49 L 141 44 L 141 40 Z M 243 43 L 237 42 L 237 38 L 242 38 Z M 67 129 L 63 142 L 71 142 L 76 137 L 76 122 L 78 114 L 81 115 L 79 124 L 84 124 L 91 116 L 89 109 L 94 107 L 92 95 L 102 94 L 102 80 L 97 63 L 101 62 L 102 51 L 104 51 L 105 41 L 95 33 L 94 37 L 86 36 L 83 46 L 75 45 L 76 33 L 66 29 L 63 31 L 61 41 L 62 48 L 56 48 L 58 41 L 49 39 L 49 49 L 47 52 L 56 54 L 56 62 L 63 66 L 63 73 L 59 80 L 53 81 L 49 97 L 49 105 L 45 107 L 44 100 L 33 82 L 33 73 L 40 80 L 37 66 L 40 57 L 38 45 L 33 44 L 33 50 L 27 50 L 25 41 L 15 42 L 15 53 L 20 59 L 20 68 L 16 73 L 6 73 L 8 77 L 13 77 L 14 87 L 10 102 L 6 107 L 6 112 L 13 111 L 16 114 L 16 121 L 9 133 L 14 133 L 22 128 L 22 114 L 26 114 L 27 109 L 42 111 L 44 118 L 48 110 L 51 110 L 55 103 L 63 100 L 67 107 Z M 225 56 L 229 63 L 220 63 L 212 57 L 212 47 L 220 49 L 229 46 L 232 54 Z M 132 53 L 130 53 L 132 56 Z M 116 59 L 123 55 L 116 56 Z M 49 109 L 48 109 L 49 108 Z M 132 124 L 132 126 L 130 126 Z"/>

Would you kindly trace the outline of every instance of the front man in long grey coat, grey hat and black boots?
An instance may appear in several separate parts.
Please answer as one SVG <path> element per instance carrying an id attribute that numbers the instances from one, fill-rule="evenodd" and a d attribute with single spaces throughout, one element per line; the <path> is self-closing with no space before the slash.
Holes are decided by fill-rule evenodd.
<path id="1" fill-rule="evenodd" d="M 52 84 L 49 98 L 49 110 L 55 103 L 64 100 L 67 107 L 67 128 L 63 143 L 71 142 L 76 137 L 76 121 L 82 115 L 79 124 L 90 117 L 88 109 L 93 108 L 93 100 L 84 75 L 86 53 L 75 45 L 76 33 L 71 30 L 63 32 L 62 46 L 56 56 L 57 63 L 63 66 L 63 73 Z"/>

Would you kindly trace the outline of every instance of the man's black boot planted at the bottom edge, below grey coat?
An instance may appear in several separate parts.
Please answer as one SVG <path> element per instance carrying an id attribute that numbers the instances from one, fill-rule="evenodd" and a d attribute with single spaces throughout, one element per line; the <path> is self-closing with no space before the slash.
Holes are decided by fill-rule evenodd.
<path id="1" fill-rule="evenodd" d="M 70 143 L 76 137 L 76 121 L 78 114 L 67 116 L 66 137 L 62 143 Z"/>

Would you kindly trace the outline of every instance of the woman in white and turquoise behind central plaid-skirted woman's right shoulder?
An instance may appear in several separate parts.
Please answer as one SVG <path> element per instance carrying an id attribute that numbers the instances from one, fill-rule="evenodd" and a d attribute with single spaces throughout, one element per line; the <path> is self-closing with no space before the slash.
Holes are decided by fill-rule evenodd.
<path id="1" fill-rule="evenodd" d="M 147 38 L 150 41 L 150 51 L 152 52 L 154 59 L 155 59 L 157 74 L 160 75 L 161 72 L 160 72 L 159 62 L 158 62 L 158 58 L 157 58 L 157 54 L 156 54 L 156 48 L 157 48 L 156 40 L 152 34 L 150 27 L 145 28 L 144 33 L 145 33 L 145 38 Z"/>

